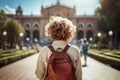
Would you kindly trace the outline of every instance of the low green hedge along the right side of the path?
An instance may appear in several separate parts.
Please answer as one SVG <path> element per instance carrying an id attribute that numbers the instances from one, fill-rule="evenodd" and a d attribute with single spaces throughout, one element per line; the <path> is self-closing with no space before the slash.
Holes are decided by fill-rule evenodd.
<path id="1" fill-rule="evenodd" d="M 108 51 L 106 54 L 106 51 L 92 50 L 92 51 L 89 51 L 89 56 L 120 70 L 120 55 L 118 54 L 115 55 L 110 51 Z"/>

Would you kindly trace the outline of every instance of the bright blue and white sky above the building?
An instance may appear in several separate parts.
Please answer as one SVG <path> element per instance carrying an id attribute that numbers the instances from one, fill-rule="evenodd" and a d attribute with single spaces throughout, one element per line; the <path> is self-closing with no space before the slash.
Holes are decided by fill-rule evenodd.
<path id="1" fill-rule="evenodd" d="M 7 14 L 15 14 L 20 5 L 24 15 L 41 15 L 41 6 L 45 8 L 55 5 L 57 0 L 0 0 L 0 9 Z M 76 15 L 94 15 L 95 9 L 100 7 L 99 0 L 59 0 L 62 5 L 76 7 Z"/>

